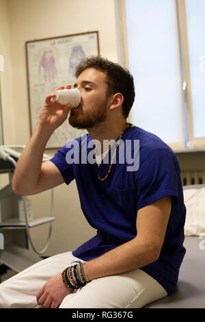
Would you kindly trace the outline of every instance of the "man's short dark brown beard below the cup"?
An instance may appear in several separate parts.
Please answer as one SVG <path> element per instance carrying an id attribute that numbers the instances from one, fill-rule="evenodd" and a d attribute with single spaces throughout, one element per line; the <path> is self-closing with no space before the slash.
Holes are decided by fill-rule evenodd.
<path id="1" fill-rule="evenodd" d="M 107 99 L 98 104 L 98 107 L 94 110 L 88 110 L 83 112 L 81 106 L 79 106 L 79 111 L 72 112 L 70 110 L 70 117 L 68 122 L 72 127 L 77 127 L 77 129 L 89 129 L 96 126 L 99 123 L 105 121 L 107 116 Z"/>

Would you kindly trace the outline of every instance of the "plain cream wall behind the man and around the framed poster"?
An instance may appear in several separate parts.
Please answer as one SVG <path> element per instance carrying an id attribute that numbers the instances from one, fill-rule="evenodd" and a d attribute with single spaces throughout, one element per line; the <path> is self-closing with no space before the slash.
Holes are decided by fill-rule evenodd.
<path id="1" fill-rule="evenodd" d="M 2 79 L 3 123 L 11 124 L 9 130 L 4 129 L 5 144 L 24 145 L 30 137 L 25 42 L 98 30 L 100 54 L 117 62 L 114 0 L 0 0 L 0 12 L 0 54 L 8 55 L 8 69 Z M 54 152 L 47 151 L 51 155 Z M 49 215 L 50 192 L 31 200 L 35 217 Z M 95 233 L 81 212 L 74 182 L 55 188 L 54 214 L 45 256 L 72 250 Z M 48 228 L 42 225 L 31 230 L 38 249 L 44 247 Z"/>

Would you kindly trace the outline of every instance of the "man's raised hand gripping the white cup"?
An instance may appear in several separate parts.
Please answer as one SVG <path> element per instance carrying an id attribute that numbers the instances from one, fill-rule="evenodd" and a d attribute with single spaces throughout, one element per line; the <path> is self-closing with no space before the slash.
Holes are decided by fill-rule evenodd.
<path id="1" fill-rule="evenodd" d="M 67 85 L 66 89 L 70 89 L 71 86 Z M 56 88 L 56 90 L 63 90 L 64 86 L 60 86 Z M 55 90 L 55 91 L 56 91 Z M 55 91 L 52 94 L 46 96 L 46 99 L 43 103 L 43 106 L 40 110 L 40 119 L 39 123 L 43 127 L 49 125 L 49 129 L 55 130 L 59 127 L 68 116 L 68 112 L 70 111 L 70 104 L 61 105 L 55 101 Z"/>

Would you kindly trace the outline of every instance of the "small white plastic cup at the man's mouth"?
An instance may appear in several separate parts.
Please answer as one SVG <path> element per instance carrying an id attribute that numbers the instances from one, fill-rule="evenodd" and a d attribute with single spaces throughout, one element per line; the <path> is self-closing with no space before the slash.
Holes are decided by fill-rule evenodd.
<path id="1" fill-rule="evenodd" d="M 71 104 L 71 108 L 77 108 L 81 101 L 81 92 L 77 89 L 57 90 L 55 92 L 55 101 L 62 105 Z"/>

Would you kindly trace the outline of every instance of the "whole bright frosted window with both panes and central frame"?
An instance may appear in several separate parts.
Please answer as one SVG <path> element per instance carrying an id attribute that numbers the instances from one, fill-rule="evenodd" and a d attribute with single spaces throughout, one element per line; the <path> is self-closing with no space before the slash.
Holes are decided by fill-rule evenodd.
<path id="1" fill-rule="evenodd" d="M 172 148 L 205 146 L 205 1 L 124 0 L 133 123 Z"/>

